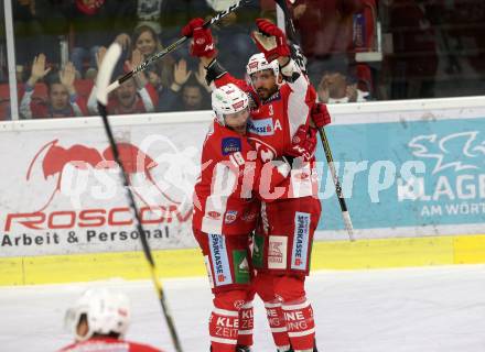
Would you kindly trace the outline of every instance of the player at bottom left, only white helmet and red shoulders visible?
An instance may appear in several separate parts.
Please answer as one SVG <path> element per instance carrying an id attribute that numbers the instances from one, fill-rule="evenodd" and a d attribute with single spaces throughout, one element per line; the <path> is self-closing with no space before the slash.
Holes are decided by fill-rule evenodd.
<path id="1" fill-rule="evenodd" d="M 88 289 L 66 312 L 75 342 L 58 352 L 162 352 L 123 340 L 130 321 L 128 297 L 108 289 Z"/>

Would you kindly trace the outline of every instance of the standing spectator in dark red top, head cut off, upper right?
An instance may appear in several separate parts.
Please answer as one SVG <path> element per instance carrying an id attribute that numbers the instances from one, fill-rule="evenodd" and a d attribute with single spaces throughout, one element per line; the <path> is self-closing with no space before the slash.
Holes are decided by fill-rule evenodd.
<path id="1" fill-rule="evenodd" d="M 356 52 L 374 50 L 375 0 L 297 0 L 290 6 L 314 85 L 325 69 L 355 66 Z M 369 68 L 357 72 L 371 89 Z"/>

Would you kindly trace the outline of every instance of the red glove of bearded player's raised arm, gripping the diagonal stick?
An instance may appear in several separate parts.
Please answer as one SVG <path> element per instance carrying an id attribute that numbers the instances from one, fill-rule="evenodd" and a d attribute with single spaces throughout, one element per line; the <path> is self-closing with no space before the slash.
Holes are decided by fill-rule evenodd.
<path id="1" fill-rule="evenodd" d="M 209 29 L 203 28 L 204 20 L 193 19 L 182 29 L 182 35 L 192 37 L 191 55 L 197 57 L 214 57 L 216 48 Z"/>

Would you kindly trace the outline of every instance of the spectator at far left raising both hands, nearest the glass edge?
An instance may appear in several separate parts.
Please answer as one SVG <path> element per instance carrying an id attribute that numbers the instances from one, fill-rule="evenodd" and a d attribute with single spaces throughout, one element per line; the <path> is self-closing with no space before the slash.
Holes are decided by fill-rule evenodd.
<path id="1" fill-rule="evenodd" d="M 69 118 L 86 116 L 86 101 L 76 94 L 74 87 L 75 68 L 72 63 L 47 79 L 47 101 L 33 101 L 35 84 L 44 78 L 51 68 L 45 66 L 45 55 L 36 56 L 32 72 L 25 84 L 25 94 L 20 103 L 20 116 L 23 119 Z"/>

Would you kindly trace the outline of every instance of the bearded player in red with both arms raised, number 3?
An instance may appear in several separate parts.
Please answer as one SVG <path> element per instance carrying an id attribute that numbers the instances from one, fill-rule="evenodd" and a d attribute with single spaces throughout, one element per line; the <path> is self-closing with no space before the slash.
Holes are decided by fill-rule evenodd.
<path id="1" fill-rule="evenodd" d="M 259 160 L 294 156 L 298 151 L 291 145 L 300 139 L 302 125 L 309 125 L 315 90 L 291 59 L 282 31 L 267 20 L 257 20 L 258 31 L 252 37 L 261 53 L 249 59 L 250 81 L 246 82 L 220 66 L 211 32 L 202 24 L 202 19 L 194 19 L 183 29 L 184 35 L 193 37 L 191 53 L 201 57 L 207 68 L 207 82 L 213 87 L 233 82 L 250 96 L 248 139 Z M 317 125 L 328 122 L 322 106 L 314 110 Z M 309 133 L 314 136 L 315 131 L 310 129 Z M 252 254 L 258 270 L 255 287 L 265 301 L 278 351 L 316 351 L 313 311 L 304 290 L 321 213 L 316 190 L 314 157 L 308 153 L 295 158 L 279 199 L 261 205 Z"/>

